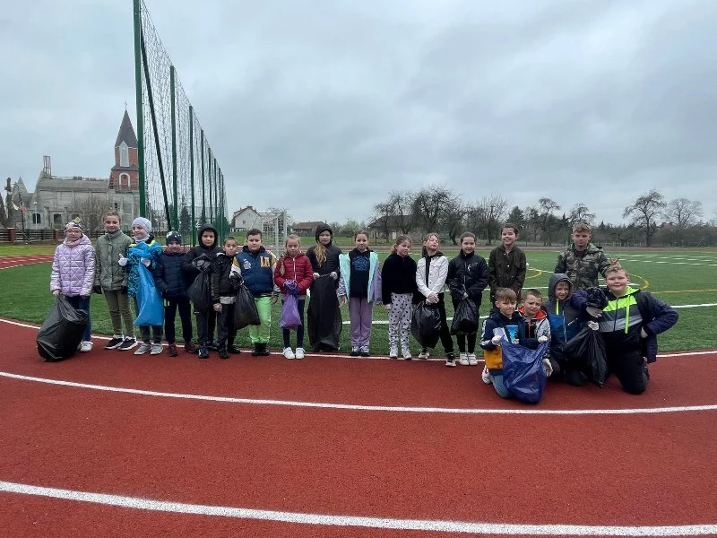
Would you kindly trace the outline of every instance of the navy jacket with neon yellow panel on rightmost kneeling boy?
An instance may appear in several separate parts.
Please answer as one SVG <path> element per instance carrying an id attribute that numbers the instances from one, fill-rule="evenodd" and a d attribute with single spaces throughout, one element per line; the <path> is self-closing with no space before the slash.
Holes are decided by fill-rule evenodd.
<path id="1" fill-rule="evenodd" d="M 609 356 L 627 355 L 639 351 L 648 362 L 657 360 L 657 335 L 678 322 L 677 311 L 649 291 L 627 286 L 622 297 L 607 288 L 608 306 L 602 309 L 600 334 L 605 339 Z M 640 337 L 644 329 L 647 338 Z"/>

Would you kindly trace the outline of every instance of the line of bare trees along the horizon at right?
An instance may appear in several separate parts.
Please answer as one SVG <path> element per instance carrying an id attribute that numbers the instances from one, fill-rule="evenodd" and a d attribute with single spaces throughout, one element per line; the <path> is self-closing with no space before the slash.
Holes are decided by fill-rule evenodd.
<path id="1" fill-rule="evenodd" d="M 511 205 L 505 195 L 490 193 L 469 201 L 450 187 L 433 185 L 419 190 L 393 190 L 374 205 L 368 227 L 388 240 L 393 233 L 420 235 L 437 231 L 454 245 L 463 231 L 493 245 L 500 239 L 500 226 L 511 222 L 521 230 L 523 241 L 543 246 L 565 245 L 573 225 L 592 224 L 595 242 L 614 246 L 662 245 L 672 247 L 717 245 L 717 219 L 702 220 L 703 204 L 681 197 L 667 201 L 658 189 L 639 195 L 623 209 L 622 223 L 596 222 L 595 213 L 583 202 L 563 208 L 548 196 L 527 207 Z M 351 235 L 362 223 L 334 223 L 341 235 Z M 341 233 L 343 232 L 343 233 Z"/>

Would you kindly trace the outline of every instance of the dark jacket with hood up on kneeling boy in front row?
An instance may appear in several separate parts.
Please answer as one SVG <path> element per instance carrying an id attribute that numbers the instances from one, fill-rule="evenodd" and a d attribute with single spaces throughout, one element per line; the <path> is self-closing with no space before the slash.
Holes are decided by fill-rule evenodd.
<path id="1" fill-rule="evenodd" d="M 567 282 L 566 299 L 558 300 L 555 288 L 558 282 Z M 583 328 L 581 316 L 582 295 L 575 296 L 573 282 L 565 273 L 555 273 L 548 284 L 548 302 L 544 305 L 550 323 L 550 354 L 557 360 L 563 359 L 563 348 L 568 340 Z"/>

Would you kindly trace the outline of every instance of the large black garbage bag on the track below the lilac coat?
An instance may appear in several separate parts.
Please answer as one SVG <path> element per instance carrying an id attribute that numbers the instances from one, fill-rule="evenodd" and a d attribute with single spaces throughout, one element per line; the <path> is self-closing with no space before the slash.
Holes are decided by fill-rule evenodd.
<path id="1" fill-rule="evenodd" d="M 90 316 L 85 310 L 73 308 L 64 295 L 58 295 L 45 323 L 38 332 L 38 352 L 46 362 L 72 357 L 82 342 Z"/>

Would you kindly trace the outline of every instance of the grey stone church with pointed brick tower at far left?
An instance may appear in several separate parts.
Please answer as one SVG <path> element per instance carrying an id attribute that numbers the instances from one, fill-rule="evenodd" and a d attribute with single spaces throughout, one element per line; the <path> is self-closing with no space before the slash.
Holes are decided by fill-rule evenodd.
<path id="1" fill-rule="evenodd" d="M 137 136 L 125 110 L 115 143 L 115 164 L 109 178 L 62 177 L 52 174 L 52 163 L 44 158 L 35 192 L 28 192 L 19 178 L 14 184 L 8 178 L 6 208 L 8 227 L 22 230 L 62 230 L 65 222 L 82 218 L 87 230 L 102 229 L 102 213 L 115 210 L 122 218 L 122 228 L 129 230 L 139 214 L 139 167 Z M 21 204 L 22 202 L 22 204 Z M 21 209 L 14 209 L 17 206 Z M 22 212 L 22 207 L 26 212 Z"/>

